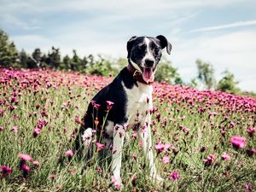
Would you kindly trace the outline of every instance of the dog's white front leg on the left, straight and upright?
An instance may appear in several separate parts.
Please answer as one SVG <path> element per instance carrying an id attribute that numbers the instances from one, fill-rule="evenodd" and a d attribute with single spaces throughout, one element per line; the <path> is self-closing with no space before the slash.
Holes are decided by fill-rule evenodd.
<path id="1" fill-rule="evenodd" d="M 112 149 L 112 165 L 114 185 L 121 184 L 121 164 L 122 164 L 122 150 L 125 138 L 125 127 L 123 125 L 115 125 L 113 128 L 113 149 Z"/>

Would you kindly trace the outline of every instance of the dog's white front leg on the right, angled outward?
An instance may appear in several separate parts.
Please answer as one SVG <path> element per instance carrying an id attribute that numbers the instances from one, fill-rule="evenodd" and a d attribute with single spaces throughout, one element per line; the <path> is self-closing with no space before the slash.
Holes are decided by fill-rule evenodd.
<path id="1" fill-rule="evenodd" d="M 156 167 L 154 164 L 154 154 L 152 148 L 152 139 L 151 139 L 151 115 L 147 114 L 143 127 L 139 129 L 140 141 L 143 143 L 143 152 L 149 163 L 150 177 L 153 177 L 158 182 L 164 181 L 156 172 Z"/>

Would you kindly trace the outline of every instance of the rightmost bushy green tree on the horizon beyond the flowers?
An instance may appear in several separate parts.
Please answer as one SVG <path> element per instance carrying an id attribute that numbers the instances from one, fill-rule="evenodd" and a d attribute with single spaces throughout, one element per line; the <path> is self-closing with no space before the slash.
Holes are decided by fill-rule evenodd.
<path id="1" fill-rule="evenodd" d="M 217 90 L 238 93 L 240 89 L 236 85 L 239 84 L 239 82 L 235 80 L 234 74 L 230 73 L 228 70 L 225 70 L 223 74 L 224 77 L 218 81 Z"/>

